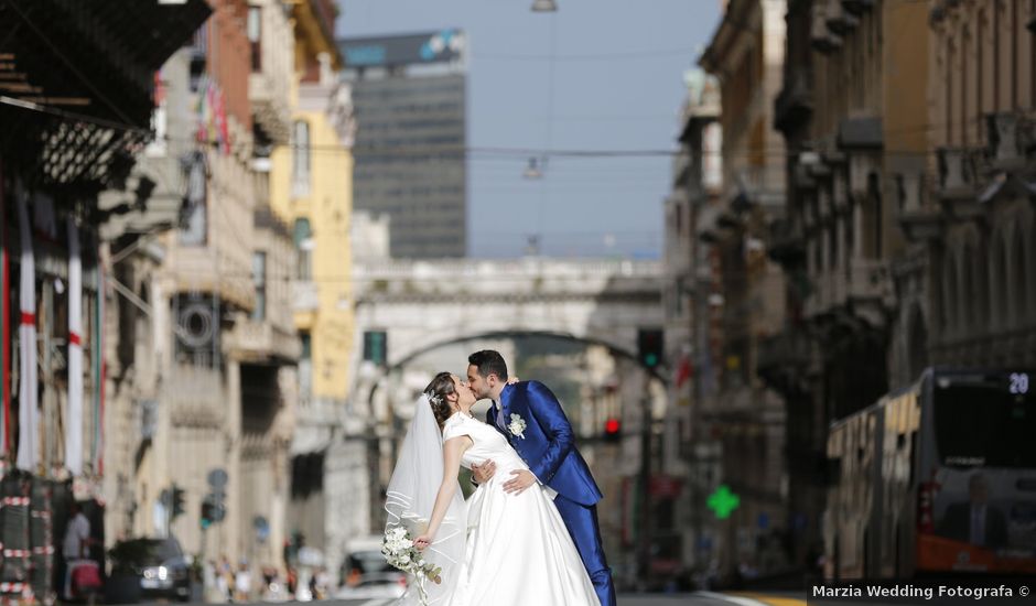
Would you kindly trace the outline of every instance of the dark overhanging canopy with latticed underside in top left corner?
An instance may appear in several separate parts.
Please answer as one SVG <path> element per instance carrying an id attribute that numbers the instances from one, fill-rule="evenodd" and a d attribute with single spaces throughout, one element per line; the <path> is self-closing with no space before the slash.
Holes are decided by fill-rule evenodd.
<path id="1" fill-rule="evenodd" d="M 205 0 L 0 0 L 6 164 L 78 196 L 125 178 L 152 136 L 155 72 L 211 12 Z"/>

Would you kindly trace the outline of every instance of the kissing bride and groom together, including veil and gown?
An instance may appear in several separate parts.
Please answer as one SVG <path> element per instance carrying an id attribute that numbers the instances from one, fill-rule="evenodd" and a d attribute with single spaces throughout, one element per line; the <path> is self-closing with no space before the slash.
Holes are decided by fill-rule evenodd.
<path id="1" fill-rule="evenodd" d="M 467 361 L 466 380 L 440 372 L 424 388 L 386 497 L 386 531 L 412 528 L 441 569 L 427 603 L 614 606 L 601 490 L 561 403 L 540 382 L 508 381 L 497 351 Z M 481 399 L 493 400 L 486 422 L 471 413 Z M 467 502 L 461 466 L 477 483 Z M 418 602 L 411 583 L 397 604 Z"/>

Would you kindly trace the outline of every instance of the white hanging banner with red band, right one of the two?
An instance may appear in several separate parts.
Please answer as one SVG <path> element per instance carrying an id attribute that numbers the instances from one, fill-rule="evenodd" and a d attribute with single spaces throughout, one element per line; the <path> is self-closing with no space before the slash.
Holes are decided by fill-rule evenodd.
<path id="1" fill-rule="evenodd" d="M 83 474 L 83 262 L 79 231 L 68 217 L 68 415 L 65 418 L 65 467 Z"/>

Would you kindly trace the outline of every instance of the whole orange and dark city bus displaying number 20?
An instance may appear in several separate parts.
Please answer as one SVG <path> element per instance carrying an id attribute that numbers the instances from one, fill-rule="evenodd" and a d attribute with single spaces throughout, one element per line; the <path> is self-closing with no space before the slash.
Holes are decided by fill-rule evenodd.
<path id="1" fill-rule="evenodd" d="M 835 421 L 824 576 L 1036 574 L 1036 374 L 929 368 Z"/>

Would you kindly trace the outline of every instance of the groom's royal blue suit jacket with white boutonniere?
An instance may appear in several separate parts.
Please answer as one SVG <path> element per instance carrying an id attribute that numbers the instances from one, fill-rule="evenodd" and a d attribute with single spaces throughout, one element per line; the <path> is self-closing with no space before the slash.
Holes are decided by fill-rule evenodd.
<path id="1" fill-rule="evenodd" d="M 486 421 L 504 433 L 537 479 L 559 495 L 587 507 L 601 500 L 601 489 L 583 456 L 575 450 L 572 425 L 558 398 L 538 381 L 508 385 L 500 394 L 503 425 L 497 424 L 496 407 L 489 407 Z M 506 429 L 517 414 L 526 422 L 519 437 Z"/>

